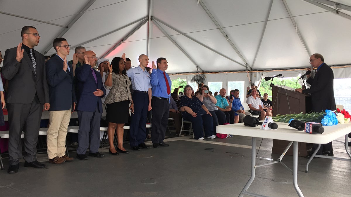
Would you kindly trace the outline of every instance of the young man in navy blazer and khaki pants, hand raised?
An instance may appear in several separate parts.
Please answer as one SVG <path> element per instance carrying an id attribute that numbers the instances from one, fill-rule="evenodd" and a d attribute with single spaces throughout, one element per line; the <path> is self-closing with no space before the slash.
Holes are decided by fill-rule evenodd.
<path id="1" fill-rule="evenodd" d="M 46 144 L 49 162 L 61 164 L 72 161 L 66 152 L 66 135 L 71 111 L 75 108 L 76 98 L 73 87 L 73 67 L 66 56 L 69 55 L 68 42 L 64 38 L 53 41 L 56 55 L 46 62 L 46 76 L 49 84 L 50 125 L 47 130 Z"/>

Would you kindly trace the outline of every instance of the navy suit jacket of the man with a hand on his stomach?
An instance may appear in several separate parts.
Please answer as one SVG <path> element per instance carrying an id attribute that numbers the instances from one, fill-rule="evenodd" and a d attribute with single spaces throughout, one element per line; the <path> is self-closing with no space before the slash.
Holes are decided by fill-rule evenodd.
<path id="1" fill-rule="evenodd" d="M 98 106 L 99 112 L 102 113 L 101 98 L 105 96 L 106 90 L 102 84 L 100 73 L 94 70 L 98 81 L 98 83 L 96 83 L 90 68 L 91 66 L 89 64 L 83 64 L 83 66 L 75 69 L 75 77 L 78 81 L 77 85 L 79 91 L 77 93 L 79 96 L 77 96 L 78 102 L 76 110 L 94 112 Z M 96 89 L 102 90 L 104 92 L 104 95 L 95 96 L 93 92 L 97 91 Z"/>

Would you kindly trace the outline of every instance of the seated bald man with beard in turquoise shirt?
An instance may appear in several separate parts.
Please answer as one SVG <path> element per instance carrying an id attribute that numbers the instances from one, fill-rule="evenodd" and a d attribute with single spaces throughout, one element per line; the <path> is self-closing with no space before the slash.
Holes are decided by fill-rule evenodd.
<path id="1" fill-rule="evenodd" d="M 229 101 L 225 98 L 226 90 L 224 88 L 219 90 L 219 95 L 214 96 L 217 99 L 216 107 L 223 111 L 227 117 L 227 123 L 233 124 L 239 122 L 239 116 L 232 110 L 232 103 L 234 98 L 232 97 Z"/>

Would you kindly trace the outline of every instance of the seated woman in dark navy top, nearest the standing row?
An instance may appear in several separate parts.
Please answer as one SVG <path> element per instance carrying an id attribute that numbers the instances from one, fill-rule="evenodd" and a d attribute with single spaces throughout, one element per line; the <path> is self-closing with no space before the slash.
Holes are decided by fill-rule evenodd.
<path id="1" fill-rule="evenodd" d="M 213 133 L 213 119 L 211 113 L 197 97 L 191 96 L 193 88 L 185 86 L 185 95 L 180 99 L 180 111 L 184 120 L 192 122 L 194 138 L 198 140 L 205 137 L 214 139 L 216 136 Z"/>

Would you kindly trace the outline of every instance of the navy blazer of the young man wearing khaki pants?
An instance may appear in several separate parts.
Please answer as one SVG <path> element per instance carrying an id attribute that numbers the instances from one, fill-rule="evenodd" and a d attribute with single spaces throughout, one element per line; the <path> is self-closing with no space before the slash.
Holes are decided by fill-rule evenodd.
<path id="1" fill-rule="evenodd" d="M 46 78 L 49 84 L 49 111 L 69 110 L 73 107 L 75 92 L 73 87 L 73 68 L 68 64 L 70 73 L 63 68 L 64 61 L 55 55 L 46 62 Z"/>

